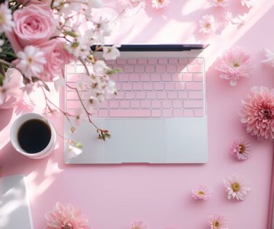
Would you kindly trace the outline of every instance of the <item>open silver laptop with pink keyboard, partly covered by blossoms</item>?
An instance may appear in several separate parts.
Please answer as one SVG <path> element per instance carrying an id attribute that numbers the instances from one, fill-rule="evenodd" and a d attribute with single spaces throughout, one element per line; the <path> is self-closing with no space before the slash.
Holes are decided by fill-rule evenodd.
<path id="1" fill-rule="evenodd" d="M 117 96 L 99 103 L 93 121 L 111 133 L 98 139 L 88 119 L 65 137 L 83 144 L 83 153 L 71 157 L 65 141 L 67 164 L 181 164 L 205 163 L 207 101 L 204 44 L 127 44 L 108 67 L 120 68 L 113 76 Z M 66 81 L 75 87 L 85 69 L 72 62 L 65 67 Z M 81 92 L 83 94 L 84 91 Z M 79 101 L 66 87 L 65 109 L 75 112 Z"/>

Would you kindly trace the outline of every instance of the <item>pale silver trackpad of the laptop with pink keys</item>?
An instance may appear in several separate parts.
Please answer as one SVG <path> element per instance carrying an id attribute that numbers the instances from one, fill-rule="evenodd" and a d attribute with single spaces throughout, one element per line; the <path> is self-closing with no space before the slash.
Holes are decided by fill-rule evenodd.
<path id="1" fill-rule="evenodd" d="M 164 119 L 106 119 L 106 163 L 166 162 Z"/>

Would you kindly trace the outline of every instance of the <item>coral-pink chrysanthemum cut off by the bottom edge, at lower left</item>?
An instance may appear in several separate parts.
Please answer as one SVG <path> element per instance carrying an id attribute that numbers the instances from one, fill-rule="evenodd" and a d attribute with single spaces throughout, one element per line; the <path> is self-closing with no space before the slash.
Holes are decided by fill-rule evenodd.
<path id="1" fill-rule="evenodd" d="M 54 210 L 45 214 L 47 226 L 45 229 L 88 229 L 88 218 L 71 204 L 67 206 L 56 203 Z"/>

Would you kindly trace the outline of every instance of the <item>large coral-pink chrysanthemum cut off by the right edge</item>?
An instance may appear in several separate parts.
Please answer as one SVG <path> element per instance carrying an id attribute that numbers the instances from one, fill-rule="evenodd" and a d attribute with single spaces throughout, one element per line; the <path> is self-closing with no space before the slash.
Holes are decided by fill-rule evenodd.
<path id="1" fill-rule="evenodd" d="M 246 131 L 258 139 L 274 138 L 274 90 L 252 87 L 239 111 Z"/>

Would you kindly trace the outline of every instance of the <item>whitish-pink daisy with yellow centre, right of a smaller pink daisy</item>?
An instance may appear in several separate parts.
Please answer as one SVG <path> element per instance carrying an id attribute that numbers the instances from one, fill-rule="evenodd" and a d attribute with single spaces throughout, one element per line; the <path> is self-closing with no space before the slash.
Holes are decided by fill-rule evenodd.
<path id="1" fill-rule="evenodd" d="M 243 201 L 245 195 L 250 191 L 250 187 L 243 176 L 236 176 L 234 173 L 227 179 L 223 180 L 225 184 L 225 191 L 227 192 L 227 198 L 236 198 L 237 201 Z"/>

